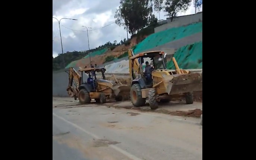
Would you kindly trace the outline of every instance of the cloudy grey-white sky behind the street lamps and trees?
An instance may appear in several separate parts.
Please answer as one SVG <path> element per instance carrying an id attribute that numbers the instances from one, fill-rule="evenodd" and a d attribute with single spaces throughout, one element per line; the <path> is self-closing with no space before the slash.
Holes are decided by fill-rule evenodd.
<path id="1" fill-rule="evenodd" d="M 86 28 L 82 26 L 92 28 L 88 29 L 92 30 L 88 31 L 90 49 L 108 41 L 113 43 L 114 40 L 117 40 L 119 42 L 121 37 L 127 39 L 126 30 L 114 23 L 114 14 L 119 2 L 120 0 L 53 0 L 53 17 L 58 20 L 61 18 L 77 19 L 62 19 L 60 21 L 63 52 L 88 50 L 87 33 L 84 31 Z M 195 8 L 191 5 L 186 13 L 178 15 L 194 13 Z M 165 14 L 164 11 L 161 11 L 160 18 L 165 20 L 167 18 L 164 16 Z M 155 16 L 159 19 L 157 12 L 155 12 Z M 107 26 L 108 24 L 110 25 Z M 130 38 L 131 35 L 128 36 Z M 60 31 L 58 21 L 53 18 L 53 57 L 58 56 L 58 53 L 62 53 Z"/>

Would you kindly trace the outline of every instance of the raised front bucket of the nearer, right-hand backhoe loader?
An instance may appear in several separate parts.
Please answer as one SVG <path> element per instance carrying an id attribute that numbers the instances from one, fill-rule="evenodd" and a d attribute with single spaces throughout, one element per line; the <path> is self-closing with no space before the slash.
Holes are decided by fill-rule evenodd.
<path id="1" fill-rule="evenodd" d="M 202 72 L 164 76 L 163 82 L 169 95 L 203 90 Z"/>

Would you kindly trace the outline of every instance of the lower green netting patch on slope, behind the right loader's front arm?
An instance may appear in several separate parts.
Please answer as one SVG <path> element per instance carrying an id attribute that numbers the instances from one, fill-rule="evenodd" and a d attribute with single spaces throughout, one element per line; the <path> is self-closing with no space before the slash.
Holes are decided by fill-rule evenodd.
<path id="1" fill-rule="evenodd" d="M 179 48 L 174 57 L 180 69 L 203 69 L 203 41 Z M 175 69 L 173 60 L 168 61 L 167 69 Z"/>

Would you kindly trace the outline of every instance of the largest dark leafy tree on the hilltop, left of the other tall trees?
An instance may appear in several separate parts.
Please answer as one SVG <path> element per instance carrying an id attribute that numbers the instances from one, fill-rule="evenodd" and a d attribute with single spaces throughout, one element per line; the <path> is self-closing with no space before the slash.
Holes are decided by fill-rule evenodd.
<path id="1" fill-rule="evenodd" d="M 148 0 L 120 0 L 114 18 L 118 26 L 125 26 L 134 35 L 147 25 L 148 15 Z"/>

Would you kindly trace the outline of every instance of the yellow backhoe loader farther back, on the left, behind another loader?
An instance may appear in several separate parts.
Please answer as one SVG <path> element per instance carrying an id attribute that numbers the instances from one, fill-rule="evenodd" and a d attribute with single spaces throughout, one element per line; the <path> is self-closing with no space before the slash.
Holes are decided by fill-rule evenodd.
<path id="1" fill-rule="evenodd" d="M 118 81 L 108 81 L 105 79 L 105 68 L 80 68 L 81 75 L 73 68 L 69 68 L 69 85 L 67 92 L 70 97 L 78 98 L 82 104 L 90 103 L 91 99 L 95 99 L 96 103 L 106 103 L 106 97 L 115 98 L 116 101 L 123 99 L 123 93 L 129 92 L 130 87 L 125 86 Z M 89 76 L 90 79 L 83 81 L 83 72 Z M 101 73 L 101 79 L 97 79 L 96 73 Z M 73 87 L 73 80 L 75 80 L 75 88 Z"/>

